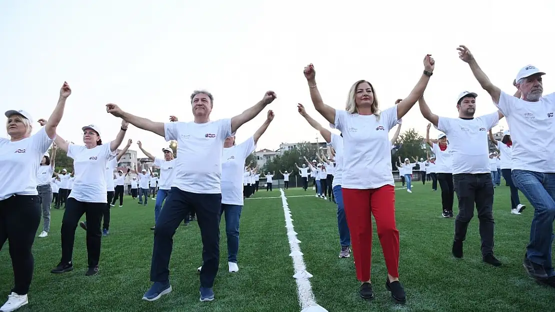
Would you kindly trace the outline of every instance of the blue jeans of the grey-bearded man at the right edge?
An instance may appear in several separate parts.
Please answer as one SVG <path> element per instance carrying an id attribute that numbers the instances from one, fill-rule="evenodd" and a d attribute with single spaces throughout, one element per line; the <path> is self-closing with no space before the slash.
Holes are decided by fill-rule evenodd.
<path id="1" fill-rule="evenodd" d="M 555 275 L 551 263 L 553 221 L 555 220 L 555 173 L 513 170 L 513 183 L 534 207 L 527 258 Z"/>

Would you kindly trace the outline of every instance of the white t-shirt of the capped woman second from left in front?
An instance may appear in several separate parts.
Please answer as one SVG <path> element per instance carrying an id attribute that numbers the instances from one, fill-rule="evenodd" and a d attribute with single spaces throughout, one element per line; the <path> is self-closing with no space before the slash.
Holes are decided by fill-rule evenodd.
<path id="1" fill-rule="evenodd" d="M 106 164 L 115 157 L 110 142 L 87 149 L 83 145 L 69 144 L 68 157 L 73 158 L 75 182 L 69 198 L 80 202 L 105 203 Z"/>

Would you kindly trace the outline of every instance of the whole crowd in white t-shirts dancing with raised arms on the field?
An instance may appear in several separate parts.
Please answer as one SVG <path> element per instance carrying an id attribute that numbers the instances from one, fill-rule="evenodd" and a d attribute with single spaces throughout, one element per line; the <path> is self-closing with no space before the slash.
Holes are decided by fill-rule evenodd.
<path id="1" fill-rule="evenodd" d="M 497 172 L 497 165 L 493 170 L 490 163 L 488 140 L 493 140 L 489 132 L 492 127 L 497 125 L 499 119 L 507 118 L 511 133 L 495 143 L 500 151 L 502 175 L 511 186 L 511 209 L 517 213 L 524 209 L 517 190 L 527 197 L 535 209 L 523 265 L 538 283 L 555 287 L 551 261 L 555 219 L 555 162 L 551 157 L 555 152 L 555 94 L 542 95 L 544 73 L 531 65 L 522 68 L 514 80 L 517 94 L 503 93 L 478 67 L 465 46 L 461 45 L 458 50 L 460 59 L 468 63 L 498 111 L 475 116 L 477 94 L 465 91 L 453 101 L 453 108 L 458 110 L 457 118 L 433 114 L 423 97 L 435 69 L 435 61 L 429 54 L 423 59 L 423 70 L 410 94 L 384 110 L 380 109 L 374 86 L 366 80 L 358 80 L 352 85 L 345 109 L 326 105 L 316 84 L 314 65 L 307 65 L 304 69 L 314 108 L 329 122 L 330 128 L 339 130 L 340 134 L 331 132 L 312 119 L 304 106 L 299 104 L 297 111 L 320 132 L 330 149 L 327 156 L 316 155 L 317 160 L 309 161 L 305 157 L 306 163 L 301 167 L 296 165 L 296 169 L 305 190 L 310 169 L 316 180 L 316 196 L 336 202 L 341 245 L 339 257 L 348 258 L 351 252 L 354 254 L 356 277 L 361 282 L 359 293 L 364 299 L 374 298 L 374 283 L 371 281 L 371 217 L 374 215 L 387 267 L 385 287 L 397 302 L 406 301 L 398 273 L 401 250 L 395 218 L 392 142 L 388 132 L 400 126 L 402 117 L 416 103 L 422 116 L 442 133 L 437 141 L 432 141 L 429 137 L 431 126 L 428 126 L 426 142 L 432 147 L 434 155 L 428 156 L 426 161 L 415 159 L 415 163 L 408 158 L 401 163 L 400 159 L 397 166 L 400 170 L 410 168 L 411 172 L 416 164 L 433 168 L 430 173 L 434 173 L 441 187 L 443 217 L 453 217 L 453 194 L 457 193 L 458 214 L 451 250 L 454 257 L 463 257 L 463 242 L 476 206 L 482 260 L 494 266 L 502 263 L 493 254 L 493 192 L 498 182 L 493 173 Z M 210 120 L 213 95 L 204 90 L 194 91 L 190 96 L 194 121 L 190 122 L 180 122 L 174 116 L 169 122 L 156 122 L 135 116 L 118 105 L 107 104 L 107 112 L 122 119 L 117 136 L 112 141 L 103 142 L 98 126 L 85 125 L 81 129 L 82 145 L 69 143 L 57 133 L 70 94 L 69 85 L 64 83 L 52 115 L 48 120 L 40 121 L 43 127 L 33 135 L 31 114 L 23 110 L 8 110 L 5 114 L 9 139 L 0 139 L 0 162 L 3 163 L 4 173 L 4 182 L 0 187 L 0 242 L 3 245 L 8 240 L 10 244 L 14 287 L 0 310 L 13 311 L 28 303 L 27 293 L 34 268 L 32 245 L 41 214 L 44 218 L 43 232 L 49 231 L 49 206 L 52 194 L 56 194 L 51 186 L 52 177 L 60 183 L 56 202 L 65 205 L 61 228 L 62 255 L 52 273 L 73 270 L 75 229 L 83 214 L 86 221 L 82 227 L 87 231 L 88 252 L 85 275 L 99 272 L 101 228 L 107 234 L 109 208 L 114 206 L 117 197 L 120 198 L 119 206 L 123 206 L 123 178 L 127 173 L 120 171 L 114 177 L 113 170 L 118 157 L 132 143 L 129 140 L 125 149 L 117 154 L 129 124 L 162 136 L 166 141 L 177 141 L 179 154 L 174 158 L 170 149 L 163 149 L 164 157 L 158 158 L 145 151 L 139 143 L 144 154 L 161 168 L 154 208 L 154 245 L 150 267 L 152 285 L 143 299 L 158 300 L 172 290 L 169 261 L 173 236 L 180 223 L 194 213 L 203 242 L 203 263 L 199 267 L 200 300 L 214 300 L 213 285 L 220 260 L 221 216 L 225 217 L 228 237 L 229 272 L 238 272 L 241 209 L 244 198 L 258 191 L 261 177 L 259 168 L 245 164 L 245 160 L 274 120 L 274 112 L 268 111 L 264 124 L 246 141 L 236 144 L 235 134 L 242 125 L 273 103 L 276 94 L 266 92 L 258 103 L 229 119 Z M 54 143 L 73 158 L 73 173 L 68 174 L 67 170 L 54 173 L 54 155 L 47 153 Z M 361 172 L 366 174 L 361 175 Z M 287 175 L 285 180 L 289 181 L 290 172 L 281 173 L 284 177 Z M 275 173 L 261 174 L 266 177 L 266 190 L 271 191 Z M 73 185 L 63 184 L 71 176 L 74 177 Z M 147 204 L 147 194 L 153 191 L 148 185 L 152 176 L 147 170 L 139 174 L 139 203 Z M 403 176 L 410 192 L 411 174 L 403 171 Z"/>

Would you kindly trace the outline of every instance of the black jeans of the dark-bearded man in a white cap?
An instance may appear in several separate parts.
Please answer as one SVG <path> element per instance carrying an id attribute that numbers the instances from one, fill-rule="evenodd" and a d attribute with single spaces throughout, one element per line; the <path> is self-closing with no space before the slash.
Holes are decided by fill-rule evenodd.
<path id="1" fill-rule="evenodd" d="M 478 211 L 482 255 L 493 254 L 493 180 L 491 173 L 460 173 L 453 175 L 458 197 L 458 214 L 455 219 L 455 241 L 466 238 L 468 223 L 474 216 L 474 204 Z"/>

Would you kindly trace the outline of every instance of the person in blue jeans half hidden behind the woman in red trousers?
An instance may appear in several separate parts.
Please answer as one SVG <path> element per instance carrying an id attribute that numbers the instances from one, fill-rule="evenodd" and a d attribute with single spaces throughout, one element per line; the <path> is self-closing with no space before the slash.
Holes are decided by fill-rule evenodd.
<path id="1" fill-rule="evenodd" d="M 351 233 L 347 224 L 345 215 L 345 206 L 343 204 L 343 193 L 341 191 L 341 181 L 343 174 L 343 136 L 332 133 L 325 129 L 319 122 L 314 120 L 307 112 L 302 104 L 297 104 L 297 111 L 314 129 L 320 132 L 327 144 L 331 145 L 335 150 L 335 176 L 333 181 L 333 192 L 335 203 L 337 204 L 337 229 L 339 229 L 339 243 L 341 250 L 339 258 L 351 257 Z M 330 123 L 331 129 L 335 129 L 335 125 Z"/>

